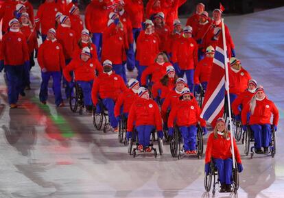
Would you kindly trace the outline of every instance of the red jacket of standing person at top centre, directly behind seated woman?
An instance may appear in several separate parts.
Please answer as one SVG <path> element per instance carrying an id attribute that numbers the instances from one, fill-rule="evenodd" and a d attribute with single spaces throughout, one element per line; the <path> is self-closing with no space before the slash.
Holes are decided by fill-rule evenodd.
<path id="1" fill-rule="evenodd" d="M 137 38 L 137 53 L 136 60 L 142 66 L 150 66 L 154 64 L 158 49 L 158 39 L 155 34 L 145 34 L 141 31 Z"/>

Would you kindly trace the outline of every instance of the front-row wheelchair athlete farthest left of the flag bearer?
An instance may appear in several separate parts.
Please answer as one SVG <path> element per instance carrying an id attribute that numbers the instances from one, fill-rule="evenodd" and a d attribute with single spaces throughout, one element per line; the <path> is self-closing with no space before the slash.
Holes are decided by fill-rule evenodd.
<path id="1" fill-rule="evenodd" d="M 138 153 L 151 153 L 154 151 L 156 157 L 156 149 L 153 144 L 150 143 L 151 134 L 154 130 L 158 132 L 158 138 L 163 139 L 162 131 L 162 118 L 158 104 L 150 99 L 149 92 L 146 88 L 139 88 L 139 98 L 134 101 L 130 108 L 127 123 L 127 134 L 128 140 L 134 137 L 134 125 L 137 131 L 138 143 L 137 147 L 133 149 L 133 156 Z M 152 135 L 153 136 L 153 135 Z"/>

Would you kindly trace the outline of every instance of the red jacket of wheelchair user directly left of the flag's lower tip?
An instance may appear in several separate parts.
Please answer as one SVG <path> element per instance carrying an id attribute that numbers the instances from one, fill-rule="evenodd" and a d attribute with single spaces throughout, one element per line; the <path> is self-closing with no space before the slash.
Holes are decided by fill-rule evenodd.
<path id="1" fill-rule="evenodd" d="M 167 126 L 174 127 L 174 121 L 176 121 L 178 127 L 189 127 L 197 125 L 200 121 L 200 125 L 206 127 L 206 122 L 200 118 L 200 113 L 201 110 L 196 101 L 178 101 L 169 113 Z"/>

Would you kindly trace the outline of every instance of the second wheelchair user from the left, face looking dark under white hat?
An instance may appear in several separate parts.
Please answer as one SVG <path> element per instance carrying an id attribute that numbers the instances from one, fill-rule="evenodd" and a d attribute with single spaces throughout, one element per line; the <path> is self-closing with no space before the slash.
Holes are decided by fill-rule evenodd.
<path id="1" fill-rule="evenodd" d="M 93 123 L 99 123 L 99 126 L 102 126 L 102 118 L 105 115 L 104 109 L 106 109 L 110 125 L 113 131 L 117 132 L 115 101 L 117 101 L 121 92 L 125 90 L 127 90 L 126 84 L 122 77 L 113 71 L 113 63 L 110 60 L 105 60 L 103 63 L 103 73 L 95 79 L 92 89 L 92 100 L 95 106 L 93 110 Z M 99 119 L 99 121 L 97 122 L 96 119 Z M 104 132 L 106 132 L 106 125 Z"/>

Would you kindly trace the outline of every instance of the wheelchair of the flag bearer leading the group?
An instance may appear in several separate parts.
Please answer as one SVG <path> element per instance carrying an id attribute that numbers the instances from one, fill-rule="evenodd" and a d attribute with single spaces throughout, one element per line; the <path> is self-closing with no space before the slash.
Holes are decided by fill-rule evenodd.
<path id="1" fill-rule="evenodd" d="M 237 171 L 237 162 L 235 161 L 235 169 L 233 169 L 232 167 L 232 181 L 233 181 L 233 193 L 237 194 L 237 190 L 239 189 L 239 172 Z M 208 175 L 206 175 L 206 173 L 204 173 L 204 188 L 206 190 L 206 192 L 210 192 L 211 190 L 211 186 L 212 186 L 212 177 L 213 177 L 213 190 L 212 190 L 212 194 L 215 195 L 215 186 L 216 184 L 218 186 L 221 186 L 220 184 L 220 180 L 218 178 L 218 171 L 217 171 L 217 168 L 215 167 L 215 164 L 213 162 L 213 159 L 211 159 L 211 162 L 210 162 L 210 173 Z M 221 193 L 221 192 L 219 192 Z M 224 192 L 224 193 L 228 193 L 228 192 Z"/>

